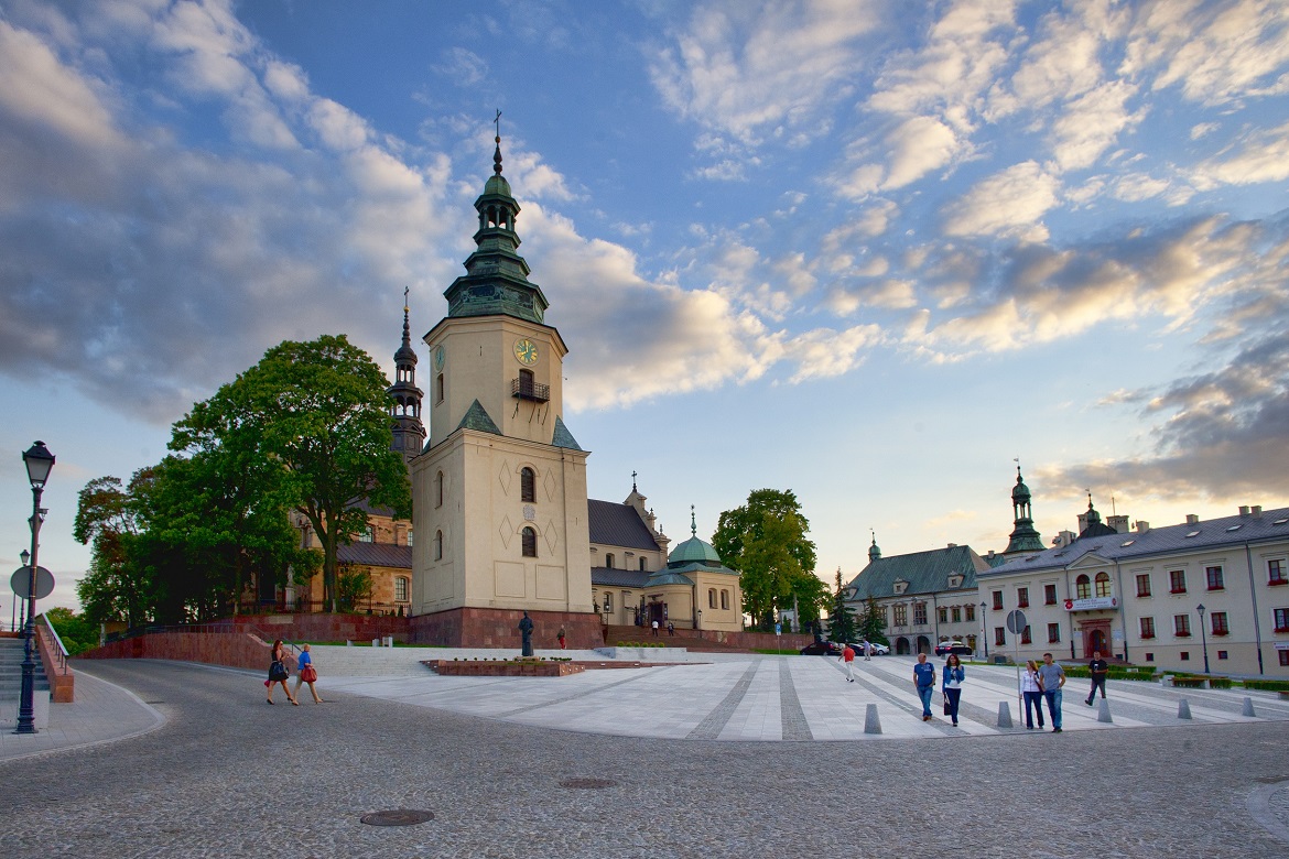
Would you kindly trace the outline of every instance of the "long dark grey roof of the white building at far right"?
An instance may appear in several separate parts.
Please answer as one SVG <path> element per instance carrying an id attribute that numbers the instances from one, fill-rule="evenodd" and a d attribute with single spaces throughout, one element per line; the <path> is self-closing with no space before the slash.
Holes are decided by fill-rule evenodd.
<path id="1" fill-rule="evenodd" d="M 982 574 L 1014 574 L 1021 571 L 1063 569 L 1085 555 L 1094 554 L 1107 562 L 1151 555 L 1176 555 L 1178 552 L 1217 546 L 1239 546 L 1246 542 L 1285 540 L 1289 537 L 1289 507 L 1263 510 L 1261 516 L 1240 514 L 1222 519 L 1209 519 L 1195 524 L 1165 525 L 1150 531 L 1105 534 L 1101 537 L 1080 537 L 1069 546 L 1057 546 L 1009 560 Z"/>

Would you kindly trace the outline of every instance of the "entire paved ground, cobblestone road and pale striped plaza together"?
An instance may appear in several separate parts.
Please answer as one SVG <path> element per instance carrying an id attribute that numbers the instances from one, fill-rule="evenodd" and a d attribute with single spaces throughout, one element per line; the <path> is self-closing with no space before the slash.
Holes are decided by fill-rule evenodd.
<path id="1" fill-rule="evenodd" d="M 0 739 L 10 853 L 1289 855 L 1289 704 L 1266 693 L 1112 681 L 1102 722 L 1071 680 L 1054 735 L 1023 729 L 1004 667 L 968 667 L 955 730 L 920 721 L 895 657 L 848 684 L 821 657 L 495 679 L 327 677 L 324 656 L 327 702 L 299 707 L 259 672 L 79 662 L 77 703 Z M 433 818 L 362 823 L 392 810 Z"/>

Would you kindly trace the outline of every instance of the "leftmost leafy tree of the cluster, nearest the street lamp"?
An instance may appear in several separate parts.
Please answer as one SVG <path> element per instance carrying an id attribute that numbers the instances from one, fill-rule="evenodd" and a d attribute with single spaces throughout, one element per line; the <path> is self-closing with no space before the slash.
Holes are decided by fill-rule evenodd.
<path id="1" fill-rule="evenodd" d="M 150 479 L 151 469 L 141 469 L 128 487 L 120 478 L 102 477 L 79 493 L 72 537 L 90 546 L 90 563 L 76 595 L 92 623 L 125 621 L 134 627 L 151 614 L 151 583 L 133 556 L 141 532 L 134 493 Z"/>

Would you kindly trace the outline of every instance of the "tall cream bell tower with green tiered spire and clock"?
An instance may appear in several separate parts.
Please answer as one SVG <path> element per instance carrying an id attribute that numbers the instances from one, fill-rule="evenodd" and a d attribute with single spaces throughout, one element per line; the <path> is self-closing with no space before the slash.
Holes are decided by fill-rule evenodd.
<path id="1" fill-rule="evenodd" d="M 563 422 L 559 332 L 518 254 L 519 203 L 501 174 L 474 201 L 476 250 L 443 292 L 431 355 L 429 446 L 412 462 L 418 640 L 505 645 L 522 612 L 599 635 L 590 591 L 586 457 Z M 538 613 L 548 613 L 545 616 Z M 583 628 L 585 627 L 585 628 Z"/>

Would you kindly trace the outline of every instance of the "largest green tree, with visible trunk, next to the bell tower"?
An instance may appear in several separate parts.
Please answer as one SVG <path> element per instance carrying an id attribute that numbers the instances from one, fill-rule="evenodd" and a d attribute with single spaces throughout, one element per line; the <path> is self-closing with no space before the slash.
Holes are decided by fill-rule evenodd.
<path id="1" fill-rule="evenodd" d="M 193 406 L 170 442 L 174 451 L 218 451 L 226 462 L 251 467 L 263 504 L 293 507 L 308 520 L 333 610 L 336 549 L 366 525 L 362 505 L 411 514 L 407 469 L 389 448 L 387 385 L 380 367 L 344 335 L 287 340 Z"/>

